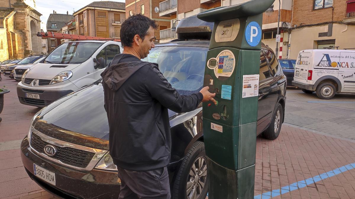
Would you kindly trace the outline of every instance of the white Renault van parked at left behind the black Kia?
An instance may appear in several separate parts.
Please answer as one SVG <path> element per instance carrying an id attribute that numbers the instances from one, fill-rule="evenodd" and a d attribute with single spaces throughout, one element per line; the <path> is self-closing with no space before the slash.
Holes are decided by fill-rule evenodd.
<path id="1" fill-rule="evenodd" d="M 17 85 L 18 99 L 22 104 L 45 107 L 99 80 L 100 73 L 122 50 L 121 42 L 116 41 L 65 42 L 24 72 Z"/>

